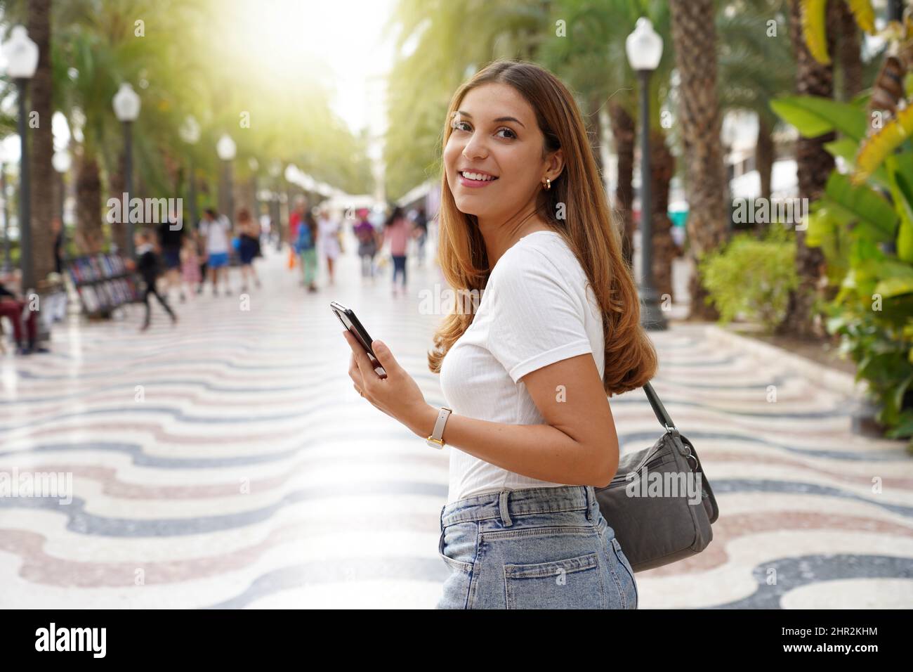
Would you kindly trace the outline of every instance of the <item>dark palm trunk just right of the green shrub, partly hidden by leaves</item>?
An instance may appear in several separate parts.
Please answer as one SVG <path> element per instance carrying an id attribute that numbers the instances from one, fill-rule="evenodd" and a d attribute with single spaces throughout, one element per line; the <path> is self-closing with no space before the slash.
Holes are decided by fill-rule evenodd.
<path id="1" fill-rule="evenodd" d="M 796 55 L 796 91 L 799 95 L 831 98 L 834 95 L 834 69 L 816 61 L 805 46 L 801 28 L 799 0 L 791 0 L 790 33 L 792 48 Z M 835 3 L 828 5 L 828 28 L 834 23 Z M 834 53 L 834 31 L 829 30 L 828 50 Z M 824 184 L 834 169 L 834 157 L 824 144 L 834 140 L 834 133 L 825 133 L 817 138 L 800 137 L 796 141 L 796 164 L 799 177 L 799 197 L 810 201 L 824 192 Z M 805 244 L 805 231 L 796 230 L 796 272 L 799 287 L 790 294 L 786 317 L 778 332 L 793 336 L 820 336 L 821 329 L 813 325 L 813 304 L 817 296 L 818 279 L 824 269 L 824 254 L 820 248 Z"/>

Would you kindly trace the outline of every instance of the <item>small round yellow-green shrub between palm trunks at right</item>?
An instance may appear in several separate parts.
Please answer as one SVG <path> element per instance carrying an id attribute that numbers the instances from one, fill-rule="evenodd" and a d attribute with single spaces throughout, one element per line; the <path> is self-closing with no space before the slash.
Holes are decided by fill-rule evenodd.
<path id="1" fill-rule="evenodd" d="M 762 239 L 740 233 L 699 262 L 707 303 L 726 324 L 744 317 L 770 333 L 786 315 L 790 292 L 798 287 L 792 231 L 772 225 Z"/>

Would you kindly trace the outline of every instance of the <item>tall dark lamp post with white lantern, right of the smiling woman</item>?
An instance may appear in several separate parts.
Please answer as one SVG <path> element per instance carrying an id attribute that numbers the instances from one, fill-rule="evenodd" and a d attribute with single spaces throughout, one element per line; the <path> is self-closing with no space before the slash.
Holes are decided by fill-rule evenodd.
<path id="1" fill-rule="evenodd" d="M 656 34 L 650 19 L 637 19 L 637 25 L 624 41 L 631 68 L 640 80 L 640 251 L 643 301 L 640 315 L 645 329 L 666 329 L 666 317 L 659 307 L 653 280 L 653 213 L 650 211 L 650 75 L 663 56 L 663 38 Z"/>

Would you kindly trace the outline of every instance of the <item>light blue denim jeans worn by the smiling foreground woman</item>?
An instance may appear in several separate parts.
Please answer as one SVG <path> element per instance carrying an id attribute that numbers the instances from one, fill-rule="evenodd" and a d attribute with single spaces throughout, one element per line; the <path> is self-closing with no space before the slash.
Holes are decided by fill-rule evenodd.
<path id="1" fill-rule="evenodd" d="M 502 490 L 441 509 L 437 609 L 636 609 L 631 563 L 592 485 Z"/>

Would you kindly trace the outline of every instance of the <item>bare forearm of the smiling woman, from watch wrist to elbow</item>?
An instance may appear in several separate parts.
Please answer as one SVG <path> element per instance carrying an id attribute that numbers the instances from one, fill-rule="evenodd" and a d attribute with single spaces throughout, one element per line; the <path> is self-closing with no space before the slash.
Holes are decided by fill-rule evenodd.
<path id="1" fill-rule="evenodd" d="M 410 427 L 425 439 L 434 429 L 438 409 L 427 406 Z M 549 424 L 507 424 L 451 413 L 442 437 L 447 445 L 519 475 L 567 485 L 599 483 L 608 469 L 582 443 Z"/>

